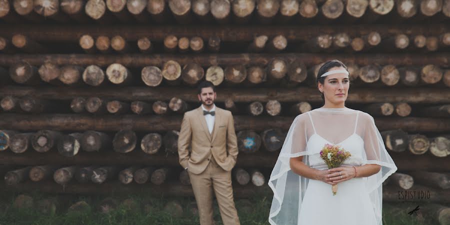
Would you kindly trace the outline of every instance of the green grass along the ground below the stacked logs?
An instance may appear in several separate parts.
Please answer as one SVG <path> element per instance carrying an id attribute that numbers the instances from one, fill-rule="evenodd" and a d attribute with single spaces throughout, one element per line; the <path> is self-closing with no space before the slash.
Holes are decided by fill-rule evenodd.
<path id="1" fill-rule="evenodd" d="M 32 193 L 34 203 L 38 199 L 46 198 L 47 196 L 38 193 Z M 3 196 L 0 198 L 0 225 L 6 224 L 39 224 L 39 225 L 70 225 L 70 224 L 164 224 L 164 225 L 190 225 L 199 224 L 198 216 L 192 215 L 189 208 L 189 203 L 193 202 L 193 197 L 177 198 L 183 207 L 183 214 L 180 217 L 172 216 L 173 213 L 164 210 L 164 205 L 167 201 L 172 200 L 168 198 L 151 198 L 142 195 L 134 196 L 115 196 L 116 199 L 131 198 L 138 203 L 137 209 L 133 210 L 122 204 L 119 204 L 115 209 L 108 213 L 101 213 L 97 210 L 99 203 L 103 197 L 99 196 L 60 196 L 58 199 L 60 203 L 60 210 L 55 213 L 43 214 L 35 207 L 27 209 L 17 209 L 13 207 L 15 195 Z M 90 208 L 84 211 L 69 212 L 67 208 L 70 204 L 84 200 L 89 203 Z M 65 203 L 64 203 L 65 202 Z M 239 219 L 242 225 L 259 225 L 268 224 L 267 216 L 270 209 L 271 199 L 266 197 L 254 197 L 249 200 L 236 200 L 236 208 L 238 210 Z M 144 205 L 150 206 L 150 210 L 145 210 Z M 389 207 L 386 205 L 384 208 Z M 407 208 L 414 208 L 415 205 L 407 205 Z M 383 209 L 384 209 L 383 208 Z M 416 215 L 408 215 L 406 211 L 396 214 L 388 214 L 387 210 L 383 210 L 383 224 L 384 225 L 432 225 L 430 219 L 424 218 L 422 222 L 417 219 Z M 222 224 L 217 203 L 214 202 L 214 220 L 216 224 Z"/>

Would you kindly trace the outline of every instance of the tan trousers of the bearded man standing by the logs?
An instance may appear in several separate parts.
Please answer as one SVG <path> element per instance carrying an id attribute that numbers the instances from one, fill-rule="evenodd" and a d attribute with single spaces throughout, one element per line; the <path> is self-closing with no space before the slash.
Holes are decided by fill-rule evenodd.
<path id="1" fill-rule="evenodd" d="M 189 169 L 187 169 L 189 172 Z M 201 225 L 212 225 L 212 190 L 220 210 L 224 225 L 240 225 L 234 206 L 231 187 L 231 172 L 225 171 L 215 162 L 214 157 L 200 174 L 189 172 L 190 183 L 197 202 Z"/>

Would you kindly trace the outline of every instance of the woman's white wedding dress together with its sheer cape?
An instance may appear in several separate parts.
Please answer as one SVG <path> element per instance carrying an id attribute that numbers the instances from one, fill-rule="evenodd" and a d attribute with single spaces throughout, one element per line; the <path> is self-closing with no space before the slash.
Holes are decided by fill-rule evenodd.
<path id="1" fill-rule="evenodd" d="M 303 162 L 309 167 L 328 169 L 319 155 L 327 143 L 339 145 L 351 153 L 341 166 L 379 164 L 380 171 L 369 177 L 338 183 L 337 193 L 333 195 L 331 184 L 299 176 L 290 170 L 289 158 L 300 155 L 304 155 Z M 289 129 L 270 175 L 269 186 L 274 196 L 269 222 L 277 225 L 381 225 L 381 182 L 396 169 L 369 114 L 349 108 L 317 108 L 300 114 Z"/>

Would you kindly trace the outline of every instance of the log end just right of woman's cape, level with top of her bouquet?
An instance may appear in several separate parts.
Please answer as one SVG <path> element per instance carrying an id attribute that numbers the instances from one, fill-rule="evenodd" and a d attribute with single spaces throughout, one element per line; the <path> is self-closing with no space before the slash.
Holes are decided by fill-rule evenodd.
<path id="1" fill-rule="evenodd" d="M 380 132 L 387 150 L 402 152 L 408 147 L 408 134 L 401 129 Z"/>

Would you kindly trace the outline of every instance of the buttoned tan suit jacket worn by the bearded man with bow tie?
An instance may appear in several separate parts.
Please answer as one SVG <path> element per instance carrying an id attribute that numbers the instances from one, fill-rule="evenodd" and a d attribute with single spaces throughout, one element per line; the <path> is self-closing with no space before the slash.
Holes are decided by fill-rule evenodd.
<path id="1" fill-rule="evenodd" d="M 188 147 L 192 150 L 189 152 Z M 237 158 L 237 139 L 230 111 L 215 107 L 214 128 L 209 134 L 203 109 L 184 113 L 178 136 L 179 163 L 195 174 L 201 173 L 214 157 L 220 167 L 230 171 Z"/>

